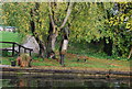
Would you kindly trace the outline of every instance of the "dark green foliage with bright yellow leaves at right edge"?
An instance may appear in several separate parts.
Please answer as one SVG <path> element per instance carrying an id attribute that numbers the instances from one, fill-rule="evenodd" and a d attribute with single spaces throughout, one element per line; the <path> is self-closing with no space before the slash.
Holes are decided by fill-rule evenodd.
<path id="1" fill-rule="evenodd" d="M 132 45 L 132 10 L 130 2 L 119 2 L 118 12 L 116 15 L 110 16 L 107 22 L 107 29 L 110 32 L 110 37 L 113 41 L 113 54 L 125 57 L 129 55 Z"/>

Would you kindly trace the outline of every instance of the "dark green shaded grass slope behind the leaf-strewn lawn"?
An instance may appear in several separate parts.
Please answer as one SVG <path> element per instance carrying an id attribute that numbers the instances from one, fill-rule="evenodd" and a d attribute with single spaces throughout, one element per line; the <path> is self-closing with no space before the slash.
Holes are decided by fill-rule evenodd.
<path id="1" fill-rule="evenodd" d="M 90 43 L 69 43 L 69 47 L 67 53 L 77 54 L 81 56 L 89 56 L 94 58 L 100 58 L 100 59 L 118 59 L 118 60 L 128 60 L 127 57 L 119 57 L 117 55 L 108 56 L 106 53 L 103 53 L 103 46 L 100 45 L 94 45 Z"/>

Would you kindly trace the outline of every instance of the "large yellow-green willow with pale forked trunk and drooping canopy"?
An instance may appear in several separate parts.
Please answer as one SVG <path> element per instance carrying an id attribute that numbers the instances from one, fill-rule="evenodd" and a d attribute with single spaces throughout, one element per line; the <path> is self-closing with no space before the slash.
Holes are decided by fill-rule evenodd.
<path id="1" fill-rule="evenodd" d="M 66 51 L 68 29 L 73 41 L 90 42 L 106 34 L 105 13 L 100 3 L 76 2 L 73 5 L 73 2 L 15 2 L 4 3 L 3 9 L 6 24 L 18 26 L 19 32 L 24 34 L 32 32 L 40 44 L 40 54 L 46 48 L 47 57 L 55 49 L 58 34 L 62 35 L 59 53 Z"/>

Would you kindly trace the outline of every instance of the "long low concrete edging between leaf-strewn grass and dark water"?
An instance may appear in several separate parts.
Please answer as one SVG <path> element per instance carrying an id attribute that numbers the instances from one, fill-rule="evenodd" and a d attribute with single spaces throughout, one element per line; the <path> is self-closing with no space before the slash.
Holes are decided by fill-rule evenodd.
<path id="1" fill-rule="evenodd" d="M 100 75 L 100 76 L 106 76 L 106 77 L 130 77 L 132 76 L 132 71 L 113 71 L 113 70 L 77 70 L 77 69 L 38 69 L 38 68 L 21 68 L 21 67 L 0 67 L 0 71 L 2 73 L 13 73 L 13 74 L 37 74 L 37 75 L 44 75 L 44 74 L 59 74 L 59 75 L 89 75 L 89 76 L 95 76 L 95 75 Z"/>

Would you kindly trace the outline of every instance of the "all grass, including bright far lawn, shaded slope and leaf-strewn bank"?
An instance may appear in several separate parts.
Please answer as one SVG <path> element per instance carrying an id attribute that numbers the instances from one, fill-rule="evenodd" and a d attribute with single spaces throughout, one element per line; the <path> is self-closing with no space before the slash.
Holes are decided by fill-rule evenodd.
<path id="1" fill-rule="evenodd" d="M 1 41 L 16 42 L 21 43 L 22 37 L 19 36 L 19 33 L 11 32 L 0 32 L 2 37 Z M 11 45 L 3 45 L 2 47 L 9 47 Z M 58 47 L 58 46 L 57 46 Z M 107 56 L 102 53 L 102 46 L 84 44 L 84 43 L 69 43 L 67 55 L 65 57 L 65 68 L 81 68 L 81 69 L 113 69 L 113 70 L 130 70 L 130 62 L 125 58 L 118 58 L 117 56 Z M 81 58 L 77 62 L 78 56 L 86 56 L 87 62 L 84 62 Z M 10 65 L 10 57 L 1 57 L 3 65 Z M 57 53 L 57 58 L 59 58 Z M 15 59 L 15 58 L 14 58 Z M 33 57 L 32 66 L 36 67 L 46 67 L 51 68 L 62 68 L 59 63 L 55 59 L 43 59 L 38 57 Z"/>

